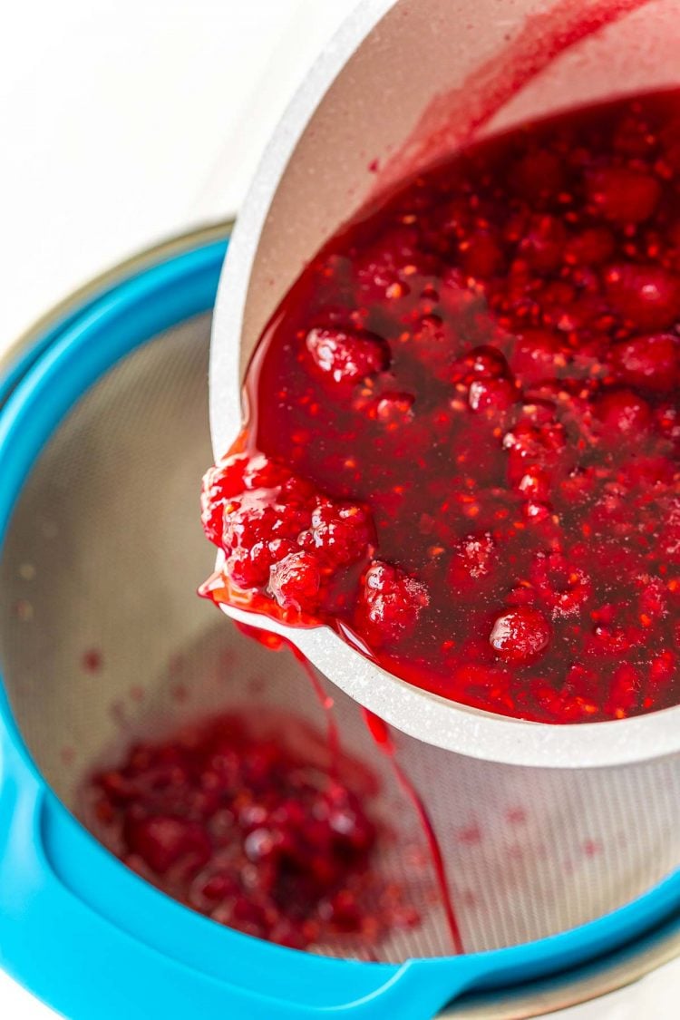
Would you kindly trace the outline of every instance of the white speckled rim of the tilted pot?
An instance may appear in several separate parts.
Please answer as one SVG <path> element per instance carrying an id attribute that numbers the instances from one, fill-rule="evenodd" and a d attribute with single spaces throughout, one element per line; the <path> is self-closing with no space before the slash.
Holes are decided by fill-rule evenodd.
<path id="1" fill-rule="evenodd" d="M 243 425 L 240 343 L 249 280 L 269 208 L 326 92 L 391 6 L 393 0 L 364 0 L 343 22 L 289 104 L 244 202 L 220 277 L 213 319 L 210 424 L 216 457 L 225 453 Z M 457 704 L 416 687 L 366 658 L 330 627 L 301 629 L 244 609 L 222 609 L 233 619 L 251 624 L 257 620 L 260 626 L 284 635 L 355 701 L 397 729 L 444 750 L 541 768 L 619 766 L 680 752 L 680 706 L 608 722 L 528 722 Z"/>

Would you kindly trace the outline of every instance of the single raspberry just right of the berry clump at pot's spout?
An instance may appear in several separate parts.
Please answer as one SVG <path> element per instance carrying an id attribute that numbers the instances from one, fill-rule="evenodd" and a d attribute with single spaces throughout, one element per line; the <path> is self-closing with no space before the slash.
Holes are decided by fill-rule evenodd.
<path id="1" fill-rule="evenodd" d="M 359 595 L 361 632 L 379 642 L 399 638 L 415 626 L 428 604 L 424 584 L 399 567 L 375 560 L 364 574 Z"/>

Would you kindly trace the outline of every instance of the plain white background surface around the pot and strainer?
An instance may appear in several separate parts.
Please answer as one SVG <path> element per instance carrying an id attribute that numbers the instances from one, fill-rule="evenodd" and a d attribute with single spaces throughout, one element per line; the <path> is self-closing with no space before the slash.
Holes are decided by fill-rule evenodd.
<path id="1" fill-rule="evenodd" d="M 354 3 L 12 4 L 0 30 L 0 351 L 101 269 L 234 212 L 292 90 Z M 53 1016 L 0 971 L 0 1017 Z M 680 1017 L 680 962 L 560 1014 L 641 1017 Z"/>

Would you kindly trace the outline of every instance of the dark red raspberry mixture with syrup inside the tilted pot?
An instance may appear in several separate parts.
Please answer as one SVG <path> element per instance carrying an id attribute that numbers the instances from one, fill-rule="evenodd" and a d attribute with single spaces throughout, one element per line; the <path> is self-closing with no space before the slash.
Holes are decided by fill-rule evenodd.
<path id="1" fill-rule="evenodd" d="M 333 238 L 206 476 L 216 601 L 545 722 L 680 702 L 680 93 L 474 145 Z"/>

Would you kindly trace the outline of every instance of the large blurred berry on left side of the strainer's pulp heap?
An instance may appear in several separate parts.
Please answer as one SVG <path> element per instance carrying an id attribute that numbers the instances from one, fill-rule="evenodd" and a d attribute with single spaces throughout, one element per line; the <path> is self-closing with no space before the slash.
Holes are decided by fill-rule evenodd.
<path id="1" fill-rule="evenodd" d="M 152 871 L 164 875 L 182 858 L 198 870 L 210 857 L 210 842 L 196 822 L 171 815 L 151 815 L 125 820 L 124 837 L 133 854 L 139 854 Z"/>

